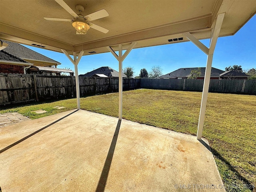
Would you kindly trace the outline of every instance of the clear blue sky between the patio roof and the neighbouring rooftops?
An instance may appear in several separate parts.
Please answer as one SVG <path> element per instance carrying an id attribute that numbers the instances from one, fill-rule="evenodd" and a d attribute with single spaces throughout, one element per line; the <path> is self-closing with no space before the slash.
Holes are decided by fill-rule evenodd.
<path id="1" fill-rule="evenodd" d="M 202 40 L 207 47 L 210 40 Z M 26 46 L 44 54 L 60 63 L 58 68 L 70 68 L 73 64 L 62 53 Z M 133 49 L 123 62 L 123 68 L 134 68 L 134 76 L 138 76 L 142 68 L 148 72 L 152 66 L 160 66 L 163 74 L 179 68 L 205 67 L 207 56 L 192 42 L 183 42 Z M 256 15 L 252 17 L 234 36 L 220 37 L 214 52 L 212 67 L 224 70 L 227 66 L 241 65 L 243 69 L 256 68 Z M 102 66 L 109 66 L 118 71 L 118 61 L 110 52 L 83 56 L 78 73 L 85 74 Z"/>

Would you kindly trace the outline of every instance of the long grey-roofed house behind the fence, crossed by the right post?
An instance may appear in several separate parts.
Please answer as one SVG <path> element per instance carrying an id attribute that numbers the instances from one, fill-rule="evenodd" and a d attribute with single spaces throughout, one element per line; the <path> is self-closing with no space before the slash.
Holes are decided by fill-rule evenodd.
<path id="1" fill-rule="evenodd" d="M 198 67 L 193 67 L 193 68 L 180 68 L 178 70 L 175 70 L 173 72 L 170 72 L 166 75 L 162 75 L 159 78 L 160 79 L 187 79 L 191 74 L 192 70 L 198 70 Z M 198 77 L 198 79 L 204 79 L 204 74 L 205 74 L 205 67 L 200 67 L 201 70 L 201 75 Z M 222 74 L 224 71 L 212 67 L 211 70 L 211 79 L 219 79 L 220 74 Z"/>

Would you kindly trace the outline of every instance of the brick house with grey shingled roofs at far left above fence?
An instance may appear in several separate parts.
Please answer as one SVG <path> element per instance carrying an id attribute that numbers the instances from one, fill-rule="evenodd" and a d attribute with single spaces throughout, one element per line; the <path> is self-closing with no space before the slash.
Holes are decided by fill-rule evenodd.
<path id="1" fill-rule="evenodd" d="M 18 43 L 5 40 L 1 40 L 1 42 L 8 44 L 8 46 L 0 50 L 0 73 L 24 74 L 24 67 L 28 68 L 33 65 L 57 67 L 61 64 Z"/>

